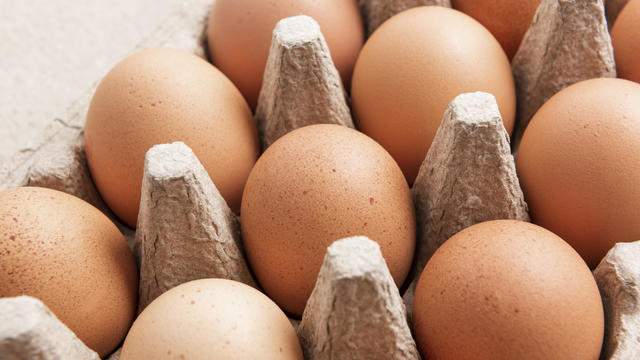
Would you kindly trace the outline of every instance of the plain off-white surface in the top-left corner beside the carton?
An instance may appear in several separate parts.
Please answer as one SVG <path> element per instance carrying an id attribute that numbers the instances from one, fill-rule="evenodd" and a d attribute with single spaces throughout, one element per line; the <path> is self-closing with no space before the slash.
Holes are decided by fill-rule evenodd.
<path id="1" fill-rule="evenodd" d="M 180 0 L 0 0 L 0 164 L 181 5 Z"/>

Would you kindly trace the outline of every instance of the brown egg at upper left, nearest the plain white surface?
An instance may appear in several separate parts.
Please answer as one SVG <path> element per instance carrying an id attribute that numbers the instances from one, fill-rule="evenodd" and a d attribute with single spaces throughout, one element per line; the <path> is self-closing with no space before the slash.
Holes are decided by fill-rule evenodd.
<path id="1" fill-rule="evenodd" d="M 180 50 L 124 59 L 93 95 L 85 148 L 100 194 L 129 226 L 136 226 L 147 150 L 174 141 L 193 149 L 237 213 L 259 155 L 256 125 L 238 89 L 211 64 Z"/>

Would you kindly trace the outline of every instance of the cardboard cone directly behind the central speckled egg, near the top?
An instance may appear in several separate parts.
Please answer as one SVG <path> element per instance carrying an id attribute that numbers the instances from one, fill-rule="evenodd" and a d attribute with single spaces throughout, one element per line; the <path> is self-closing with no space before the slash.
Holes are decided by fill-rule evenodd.
<path id="1" fill-rule="evenodd" d="M 340 74 L 309 16 L 282 19 L 273 30 L 255 118 L 263 150 L 306 125 L 354 127 Z"/>

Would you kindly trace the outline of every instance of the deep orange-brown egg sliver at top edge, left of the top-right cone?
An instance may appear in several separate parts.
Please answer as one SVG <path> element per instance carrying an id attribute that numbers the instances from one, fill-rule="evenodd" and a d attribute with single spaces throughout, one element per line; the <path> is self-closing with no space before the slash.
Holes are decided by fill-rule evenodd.
<path id="1" fill-rule="evenodd" d="M 451 0 L 454 9 L 478 20 L 512 59 L 529 30 L 541 0 Z"/>

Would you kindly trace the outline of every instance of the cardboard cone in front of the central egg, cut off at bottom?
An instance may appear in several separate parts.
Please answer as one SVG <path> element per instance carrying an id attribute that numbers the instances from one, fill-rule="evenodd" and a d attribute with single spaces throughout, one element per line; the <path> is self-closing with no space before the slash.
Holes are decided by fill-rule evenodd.
<path id="1" fill-rule="evenodd" d="M 420 359 L 380 246 L 364 236 L 327 249 L 298 337 L 309 360 Z"/>

